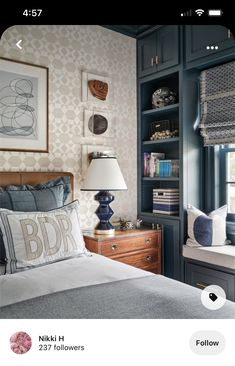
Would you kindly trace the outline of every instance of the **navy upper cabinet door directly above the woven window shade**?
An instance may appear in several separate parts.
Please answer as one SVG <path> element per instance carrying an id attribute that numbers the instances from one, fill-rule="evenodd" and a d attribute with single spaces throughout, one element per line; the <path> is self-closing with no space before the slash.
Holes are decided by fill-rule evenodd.
<path id="1" fill-rule="evenodd" d="M 218 46 L 218 49 L 207 49 Z M 231 32 L 221 25 L 186 26 L 186 62 L 209 56 L 235 46 Z"/>

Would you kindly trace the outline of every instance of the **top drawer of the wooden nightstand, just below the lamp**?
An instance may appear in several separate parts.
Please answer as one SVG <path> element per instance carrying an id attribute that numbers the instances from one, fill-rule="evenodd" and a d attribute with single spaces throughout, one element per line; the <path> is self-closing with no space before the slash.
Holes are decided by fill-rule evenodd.
<path id="1" fill-rule="evenodd" d="M 127 253 L 139 249 L 153 249 L 160 246 L 160 236 L 146 235 L 128 239 L 116 239 L 103 242 L 100 247 L 100 254 L 109 257 L 116 254 Z"/>

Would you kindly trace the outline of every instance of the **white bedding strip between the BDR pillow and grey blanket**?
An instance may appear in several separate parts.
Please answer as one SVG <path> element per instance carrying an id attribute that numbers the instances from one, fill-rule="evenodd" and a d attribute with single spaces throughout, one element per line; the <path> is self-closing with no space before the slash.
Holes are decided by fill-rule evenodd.
<path id="1" fill-rule="evenodd" d="M 76 287 L 151 275 L 98 254 L 67 259 L 0 276 L 0 306 Z"/>

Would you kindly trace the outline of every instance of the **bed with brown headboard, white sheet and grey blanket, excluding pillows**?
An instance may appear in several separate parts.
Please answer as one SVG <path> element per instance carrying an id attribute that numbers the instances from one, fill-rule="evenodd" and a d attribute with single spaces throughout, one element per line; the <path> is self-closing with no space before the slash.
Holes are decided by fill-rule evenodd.
<path id="1" fill-rule="evenodd" d="M 4 172 L 0 186 L 35 185 L 61 174 L 67 173 Z M 235 304 L 208 310 L 197 288 L 86 252 L 0 276 L 0 318 L 234 319 Z"/>

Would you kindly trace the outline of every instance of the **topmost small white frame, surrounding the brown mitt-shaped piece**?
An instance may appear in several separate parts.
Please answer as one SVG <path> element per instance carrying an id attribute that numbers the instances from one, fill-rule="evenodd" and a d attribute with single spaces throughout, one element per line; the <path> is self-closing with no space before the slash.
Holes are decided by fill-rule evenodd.
<path id="1" fill-rule="evenodd" d="M 91 94 L 88 87 L 89 80 L 99 80 L 108 84 L 108 93 L 105 100 L 98 99 Z M 112 80 L 108 76 L 98 75 L 87 71 L 82 71 L 82 101 L 92 102 L 100 106 L 106 107 L 113 103 Z"/>

